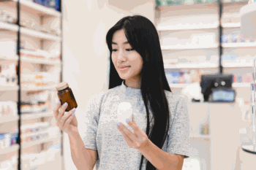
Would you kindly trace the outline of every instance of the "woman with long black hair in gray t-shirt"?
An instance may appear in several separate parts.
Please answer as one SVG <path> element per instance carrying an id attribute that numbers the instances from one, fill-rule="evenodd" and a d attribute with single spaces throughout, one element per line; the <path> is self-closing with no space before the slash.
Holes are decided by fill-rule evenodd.
<path id="1" fill-rule="evenodd" d="M 86 128 L 78 133 L 74 110 L 64 115 L 67 106 L 54 109 L 59 128 L 69 134 L 75 166 L 182 169 L 190 154 L 187 101 L 173 95 L 167 84 L 154 24 L 140 15 L 122 18 L 108 31 L 106 42 L 109 90 L 91 96 Z M 117 121 L 118 104 L 124 101 L 132 104 L 128 125 Z"/>

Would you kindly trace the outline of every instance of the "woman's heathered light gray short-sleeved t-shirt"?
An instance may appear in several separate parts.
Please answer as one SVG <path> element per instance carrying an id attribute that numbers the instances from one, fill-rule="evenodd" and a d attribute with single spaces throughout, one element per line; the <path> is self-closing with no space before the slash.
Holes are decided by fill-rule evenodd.
<path id="1" fill-rule="evenodd" d="M 165 90 L 165 95 L 170 108 L 170 130 L 161 149 L 189 158 L 191 155 L 187 100 L 167 90 Z M 83 113 L 86 127 L 80 131 L 80 135 L 87 149 L 98 152 L 97 170 L 138 170 L 140 167 L 140 151 L 129 147 L 121 132 L 116 128 L 118 104 L 124 101 L 132 104 L 135 123 L 146 133 L 146 108 L 140 89 L 129 88 L 124 85 L 124 81 L 116 88 L 91 96 L 86 111 Z M 150 107 L 148 109 L 151 123 L 153 115 Z M 131 127 L 127 128 L 132 131 Z M 142 170 L 146 169 L 145 159 Z"/>

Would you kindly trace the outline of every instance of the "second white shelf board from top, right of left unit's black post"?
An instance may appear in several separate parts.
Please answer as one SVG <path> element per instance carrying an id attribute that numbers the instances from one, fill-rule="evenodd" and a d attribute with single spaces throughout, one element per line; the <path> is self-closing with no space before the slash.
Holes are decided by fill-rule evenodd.
<path id="1" fill-rule="evenodd" d="M 51 34 L 34 31 L 33 29 L 29 29 L 29 28 L 20 27 L 20 33 L 26 36 L 35 36 L 40 39 L 47 39 L 47 40 L 56 41 L 56 42 L 61 41 L 61 37 L 59 36 L 53 36 Z"/>

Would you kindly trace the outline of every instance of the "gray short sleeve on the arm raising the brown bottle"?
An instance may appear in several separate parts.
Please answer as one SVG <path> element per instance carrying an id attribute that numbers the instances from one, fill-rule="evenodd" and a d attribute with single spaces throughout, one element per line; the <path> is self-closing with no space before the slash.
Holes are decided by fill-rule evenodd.
<path id="1" fill-rule="evenodd" d="M 99 105 L 99 94 L 91 96 L 82 115 L 83 128 L 79 129 L 85 147 L 91 150 L 97 150 L 96 135 L 99 122 Z"/>

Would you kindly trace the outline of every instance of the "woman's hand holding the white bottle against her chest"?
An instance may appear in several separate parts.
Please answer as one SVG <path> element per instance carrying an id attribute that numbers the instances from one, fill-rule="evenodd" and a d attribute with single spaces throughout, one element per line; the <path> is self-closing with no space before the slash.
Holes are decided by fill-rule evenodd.
<path id="1" fill-rule="evenodd" d="M 125 125 L 120 123 L 118 131 L 124 136 L 129 147 L 137 150 L 143 150 L 149 145 L 148 136 L 142 131 L 138 125 L 136 125 L 134 116 L 132 115 L 132 121 L 129 121 L 128 125 L 133 129 L 134 134 Z"/>

